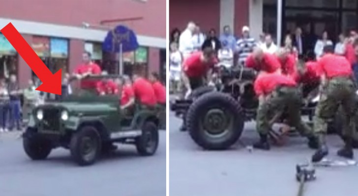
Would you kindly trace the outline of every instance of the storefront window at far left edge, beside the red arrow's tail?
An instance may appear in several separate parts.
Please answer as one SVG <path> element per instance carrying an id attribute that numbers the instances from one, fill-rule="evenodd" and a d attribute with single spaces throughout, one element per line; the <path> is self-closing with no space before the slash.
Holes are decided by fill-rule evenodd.
<path id="1" fill-rule="evenodd" d="M 5 36 L 0 34 L 0 78 L 8 78 L 10 74 L 18 74 L 18 55 Z"/>

